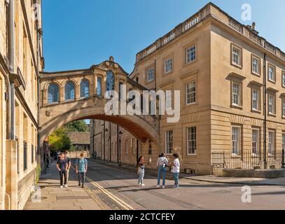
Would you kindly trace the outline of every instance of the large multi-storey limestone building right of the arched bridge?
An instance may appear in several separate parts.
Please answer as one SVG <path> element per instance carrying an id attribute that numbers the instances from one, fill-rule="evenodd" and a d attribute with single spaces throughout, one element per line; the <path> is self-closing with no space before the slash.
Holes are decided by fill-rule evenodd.
<path id="1" fill-rule="evenodd" d="M 241 161 L 246 153 L 277 160 L 284 151 L 285 53 L 259 36 L 254 24 L 240 24 L 213 3 L 137 53 L 130 78 L 149 90 L 181 91 L 179 123 L 160 117 L 158 152 L 179 153 L 182 172 L 211 174 L 216 151 Z M 173 94 L 166 104 L 173 108 Z M 100 151 L 102 123 L 91 124 L 97 124 L 91 125 L 91 151 Z M 116 125 L 109 129 L 112 147 L 118 143 Z M 123 132 L 123 151 L 132 151 L 132 138 Z M 120 160 L 134 164 L 144 155 L 155 167 L 158 153 L 151 142 L 138 154 L 122 153 Z M 116 162 L 117 155 L 111 156 Z"/>

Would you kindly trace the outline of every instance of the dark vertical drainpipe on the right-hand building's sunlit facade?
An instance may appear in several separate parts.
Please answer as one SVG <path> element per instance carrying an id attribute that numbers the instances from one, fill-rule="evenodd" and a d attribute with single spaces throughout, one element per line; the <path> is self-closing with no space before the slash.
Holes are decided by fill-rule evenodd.
<path id="1" fill-rule="evenodd" d="M 266 85 L 266 53 L 264 53 L 263 60 L 263 111 L 264 111 L 264 120 L 263 120 L 263 168 L 266 169 L 267 161 L 266 161 L 266 132 L 267 132 L 267 104 L 266 104 L 266 93 L 267 93 L 267 85 Z"/>

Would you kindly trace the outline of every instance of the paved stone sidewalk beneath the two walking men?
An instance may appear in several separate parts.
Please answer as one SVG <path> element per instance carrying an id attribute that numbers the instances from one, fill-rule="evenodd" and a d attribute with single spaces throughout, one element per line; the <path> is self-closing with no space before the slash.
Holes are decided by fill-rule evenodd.
<path id="1" fill-rule="evenodd" d="M 60 188 L 59 174 L 53 162 L 42 175 L 38 186 L 41 188 L 41 201 L 32 202 L 29 197 L 24 210 L 101 210 L 83 188 L 78 187 L 76 174 L 69 173 L 69 188 Z"/>

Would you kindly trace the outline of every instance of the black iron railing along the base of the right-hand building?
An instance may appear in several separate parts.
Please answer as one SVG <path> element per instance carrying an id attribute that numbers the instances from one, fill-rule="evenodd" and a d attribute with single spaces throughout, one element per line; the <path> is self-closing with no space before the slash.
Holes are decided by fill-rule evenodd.
<path id="1" fill-rule="evenodd" d="M 211 166 L 214 175 L 223 174 L 223 169 L 280 169 L 284 167 L 284 152 L 276 151 L 272 154 L 252 153 L 242 151 L 239 155 L 231 151 L 211 152 Z"/>

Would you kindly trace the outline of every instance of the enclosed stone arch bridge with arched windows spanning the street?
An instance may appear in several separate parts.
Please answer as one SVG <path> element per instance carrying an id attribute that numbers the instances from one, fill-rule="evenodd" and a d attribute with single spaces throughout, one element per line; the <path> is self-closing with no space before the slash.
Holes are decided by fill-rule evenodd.
<path id="1" fill-rule="evenodd" d="M 108 61 L 90 69 L 41 73 L 40 144 L 57 128 L 83 119 L 105 120 L 120 125 L 145 143 L 150 139 L 158 144 L 158 119 L 156 116 L 108 116 L 104 112 L 107 90 L 119 92 L 125 84 L 128 90 L 145 87 L 128 77 L 122 67 L 110 57 Z"/>

